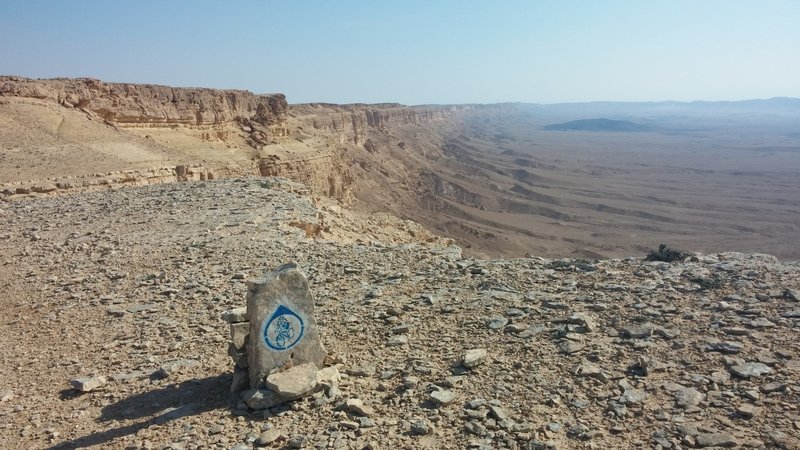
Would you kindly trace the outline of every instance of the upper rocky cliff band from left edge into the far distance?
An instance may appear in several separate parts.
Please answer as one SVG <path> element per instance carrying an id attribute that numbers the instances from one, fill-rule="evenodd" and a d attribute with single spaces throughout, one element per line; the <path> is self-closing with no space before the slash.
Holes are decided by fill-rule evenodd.
<path id="1" fill-rule="evenodd" d="M 124 128 L 190 127 L 220 129 L 236 125 L 245 141 L 260 149 L 289 137 L 289 115 L 303 130 L 313 129 L 340 144 L 370 144 L 370 131 L 391 132 L 393 126 L 423 125 L 452 118 L 470 106 L 407 107 L 395 103 L 289 106 L 283 94 L 256 95 L 243 90 L 176 88 L 151 84 L 106 83 L 92 78 L 33 80 L 0 77 L 0 96 L 35 98 L 75 108 Z M 213 133 L 224 139 L 226 131 Z M 210 135 L 209 135 L 210 136 Z"/>

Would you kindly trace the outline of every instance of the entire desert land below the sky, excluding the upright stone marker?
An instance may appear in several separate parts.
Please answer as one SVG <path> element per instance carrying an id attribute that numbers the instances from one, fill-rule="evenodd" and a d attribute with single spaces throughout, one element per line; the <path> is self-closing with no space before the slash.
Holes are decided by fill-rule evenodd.
<path id="1" fill-rule="evenodd" d="M 800 100 L 290 101 L 0 77 L 0 446 L 799 448 Z M 287 262 L 338 375 L 254 411 Z"/>

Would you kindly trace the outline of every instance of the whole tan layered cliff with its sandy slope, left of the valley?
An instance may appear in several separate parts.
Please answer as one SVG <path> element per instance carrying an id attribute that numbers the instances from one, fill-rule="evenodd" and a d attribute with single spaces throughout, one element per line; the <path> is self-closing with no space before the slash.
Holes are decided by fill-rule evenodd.
<path id="1" fill-rule="evenodd" d="M 119 177 L 106 176 L 115 173 L 147 174 L 137 175 L 137 182 L 179 181 L 183 177 L 174 168 L 186 166 L 204 167 L 222 177 L 283 176 L 317 195 L 349 199 L 353 190 L 372 188 L 364 181 L 373 169 L 404 177 L 405 163 L 392 168 L 385 160 L 400 161 L 403 154 L 419 152 L 417 141 L 436 141 L 430 139 L 434 124 L 445 126 L 470 108 L 289 106 L 282 94 L 2 76 L 0 113 L 14 127 L 0 142 L 14 150 L 9 162 L 30 165 L 23 157 L 26 152 L 49 154 L 59 162 L 37 172 L 35 179 L 0 176 L 0 188 L 16 195 L 36 192 L 32 188 L 39 185 L 59 185 L 60 191 L 64 186 L 84 188 L 87 180 L 93 181 L 91 186 L 97 181 L 110 187 L 131 182 L 127 175 L 120 183 L 114 181 Z M 47 139 L 30 140 L 34 135 Z M 20 145 L 23 141 L 28 145 Z M 71 154 L 66 160 L 65 152 Z M 119 166 L 113 158 L 120 160 Z M 76 163 L 70 166 L 70 160 Z M 92 160 L 104 164 L 86 168 Z M 161 173 L 162 167 L 173 167 L 168 177 L 149 176 L 151 171 Z"/>

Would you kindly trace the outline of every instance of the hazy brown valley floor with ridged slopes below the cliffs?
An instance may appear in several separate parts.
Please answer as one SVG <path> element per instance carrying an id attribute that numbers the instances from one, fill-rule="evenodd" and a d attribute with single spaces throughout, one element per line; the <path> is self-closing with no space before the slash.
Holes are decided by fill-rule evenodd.
<path id="1" fill-rule="evenodd" d="M 458 163 L 443 165 L 431 196 L 451 220 L 436 207 L 416 220 L 506 255 L 622 257 L 663 242 L 800 256 L 797 122 L 665 118 L 658 131 L 558 131 L 544 127 L 567 117 L 519 109 L 448 140 Z"/>

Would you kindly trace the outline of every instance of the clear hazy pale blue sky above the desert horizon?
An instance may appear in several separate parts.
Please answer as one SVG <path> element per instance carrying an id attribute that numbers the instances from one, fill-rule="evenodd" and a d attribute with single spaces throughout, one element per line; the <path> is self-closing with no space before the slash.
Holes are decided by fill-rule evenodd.
<path id="1" fill-rule="evenodd" d="M 0 0 L 0 74 L 290 103 L 800 97 L 800 1 Z"/>

